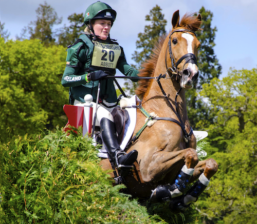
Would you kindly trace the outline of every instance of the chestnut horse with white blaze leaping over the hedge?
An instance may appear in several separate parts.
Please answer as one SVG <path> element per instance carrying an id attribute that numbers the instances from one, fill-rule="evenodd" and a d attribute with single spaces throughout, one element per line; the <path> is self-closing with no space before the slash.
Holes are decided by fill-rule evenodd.
<path id="1" fill-rule="evenodd" d="M 153 202 L 181 198 L 181 194 L 187 192 L 179 187 L 182 193 L 176 190 L 175 182 L 182 181 L 181 186 L 185 188 L 203 174 L 201 179 L 204 181 L 200 182 L 204 182 L 206 187 L 217 171 L 214 159 L 198 161 L 196 138 L 189 124 L 186 107 L 185 90 L 193 87 L 198 76 L 196 58 L 200 43 L 195 31 L 200 29 L 200 23 L 200 15 L 186 14 L 179 21 L 179 12 L 176 11 L 172 18 L 172 31 L 160 39 L 151 58 L 139 73 L 141 77 L 151 76 L 155 79 L 139 81 L 136 94 L 141 97 L 145 112 L 137 110 L 134 135 L 144 126 L 145 113 L 155 114 L 151 117 L 156 122 L 151 127 L 146 126 L 127 150 L 138 151 L 136 169 L 123 178 L 133 196 L 151 196 Z M 102 165 L 107 168 L 104 161 Z M 186 179 L 183 179 L 183 175 Z M 197 200 L 201 192 L 191 194 L 195 198 L 189 202 Z M 183 206 L 179 212 L 187 208 L 183 202 L 177 204 Z"/>

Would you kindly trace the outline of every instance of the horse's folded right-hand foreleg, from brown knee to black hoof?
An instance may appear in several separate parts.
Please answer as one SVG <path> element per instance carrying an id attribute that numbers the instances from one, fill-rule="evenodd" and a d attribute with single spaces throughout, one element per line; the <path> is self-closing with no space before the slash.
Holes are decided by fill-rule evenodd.
<path id="1" fill-rule="evenodd" d="M 195 184 L 190 188 L 187 194 L 181 197 L 177 197 L 171 200 L 170 209 L 174 213 L 179 213 L 187 210 L 190 203 L 195 202 L 201 193 L 204 192 L 209 185 L 210 178 L 217 172 L 217 162 L 210 158 L 204 161 L 198 162 L 195 167 L 195 172 L 192 177 L 192 181 L 199 177 Z"/>

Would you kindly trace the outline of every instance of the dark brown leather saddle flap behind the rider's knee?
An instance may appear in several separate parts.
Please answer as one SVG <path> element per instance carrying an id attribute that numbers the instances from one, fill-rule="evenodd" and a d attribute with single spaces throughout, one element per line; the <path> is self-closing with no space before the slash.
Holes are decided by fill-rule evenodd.
<path id="1" fill-rule="evenodd" d="M 117 139 L 120 145 L 124 136 L 125 123 L 128 120 L 128 112 L 120 107 L 115 107 L 112 111 L 112 115 L 114 117 Z"/>

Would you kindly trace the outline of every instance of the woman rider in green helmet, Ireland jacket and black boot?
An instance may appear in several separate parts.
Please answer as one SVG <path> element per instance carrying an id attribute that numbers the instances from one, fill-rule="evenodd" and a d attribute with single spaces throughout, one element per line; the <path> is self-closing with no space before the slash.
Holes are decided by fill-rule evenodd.
<path id="1" fill-rule="evenodd" d="M 91 94 L 96 102 L 98 83 L 100 97 L 96 115 L 96 126 L 100 126 L 102 141 L 108 156 L 116 167 L 132 165 L 137 158 L 136 150 L 126 154 L 119 148 L 114 118 L 111 114 L 117 103 L 113 79 L 118 68 L 124 75 L 138 77 L 138 71 L 127 64 L 123 48 L 109 36 L 116 18 L 116 11 L 102 2 L 91 4 L 85 12 L 85 34 L 68 46 L 66 67 L 62 85 L 69 87 L 69 103 L 81 105 L 84 96 Z M 137 79 L 132 79 L 137 82 Z M 93 104 L 95 104 L 92 102 Z"/>

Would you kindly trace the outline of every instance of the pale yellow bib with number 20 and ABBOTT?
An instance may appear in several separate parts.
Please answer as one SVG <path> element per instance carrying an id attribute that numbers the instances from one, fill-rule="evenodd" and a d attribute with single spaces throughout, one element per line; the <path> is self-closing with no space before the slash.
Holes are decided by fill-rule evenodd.
<path id="1" fill-rule="evenodd" d="M 116 69 L 121 48 L 116 44 L 104 44 L 94 41 L 94 51 L 91 65 L 96 67 Z"/>

